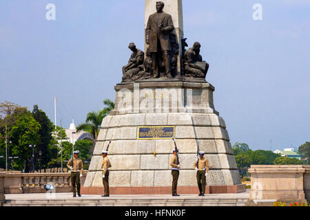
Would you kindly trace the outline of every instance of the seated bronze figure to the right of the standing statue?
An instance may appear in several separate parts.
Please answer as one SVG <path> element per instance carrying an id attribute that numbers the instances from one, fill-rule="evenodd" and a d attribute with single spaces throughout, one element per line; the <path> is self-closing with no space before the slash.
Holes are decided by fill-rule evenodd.
<path id="1" fill-rule="evenodd" d="M 200 43 L 194 43 L 184 54 L 185 77 L 205 78 L 209 69 L 209 64 L 203 61 L 200 55 Z"/>

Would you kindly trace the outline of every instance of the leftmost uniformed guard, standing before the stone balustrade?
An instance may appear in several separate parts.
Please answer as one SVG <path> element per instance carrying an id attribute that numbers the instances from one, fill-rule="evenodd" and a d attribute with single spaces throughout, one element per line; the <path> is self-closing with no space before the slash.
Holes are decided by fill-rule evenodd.
<path id="1" fill-rule="evenodd" d="M 73 158 L 69 160 L 67 167 L 71 170 L 71 184 L 73 197 L 76 197 L 76 188 L 79 197 L 81 197 L 80 177 L 83 177 L 83 162 L 79 159 L 80 151 L 74 151 Z"/>

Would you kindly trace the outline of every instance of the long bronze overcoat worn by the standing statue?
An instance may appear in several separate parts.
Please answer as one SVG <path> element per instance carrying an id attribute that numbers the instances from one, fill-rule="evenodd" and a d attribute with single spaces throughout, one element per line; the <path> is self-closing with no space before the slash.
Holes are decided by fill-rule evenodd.
<path id="1" fill-rule="evenodd" d="M 164 28 L 163 32 L 159 29 Z M 161 51 L 171 51 L 169 34 L 174 30 L 174 23 L 170 14 L 154 13 L 147 21 L 147 39 L 149 39 L 149 52 L 158 52 L 158 41 L 161 43 Z"/>

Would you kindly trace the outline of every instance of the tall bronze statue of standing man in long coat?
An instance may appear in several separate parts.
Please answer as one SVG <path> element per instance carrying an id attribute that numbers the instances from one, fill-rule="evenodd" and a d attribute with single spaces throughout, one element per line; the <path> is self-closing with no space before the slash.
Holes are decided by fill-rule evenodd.
<path id="1" fill-rule="evenodd" d="M 146 44 L 152 54 L 153 77 L 158 78 L 160 74 L 160 59 L 163 58 L 165 65 L 165 76 L 172 78 L 170 72 L 170 33 L 174 30 L 174 23 L 170 14 L 163 12 L 165 3 L 156 2 L 157 12 L 149 16 L 146 28 Z"/>

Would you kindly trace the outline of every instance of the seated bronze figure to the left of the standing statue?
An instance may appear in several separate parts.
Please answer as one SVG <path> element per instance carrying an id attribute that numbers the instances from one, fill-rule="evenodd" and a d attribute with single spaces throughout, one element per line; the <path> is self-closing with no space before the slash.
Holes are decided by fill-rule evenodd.
<path id="1" fill-rule="evenodd" d="M 129 83 L 141 78 L 144 73 L 144 52 L 138 50 L 134 43 L 128 47 L 132 51 L 130 61 L 123 67 L 123 83 Z"/>

